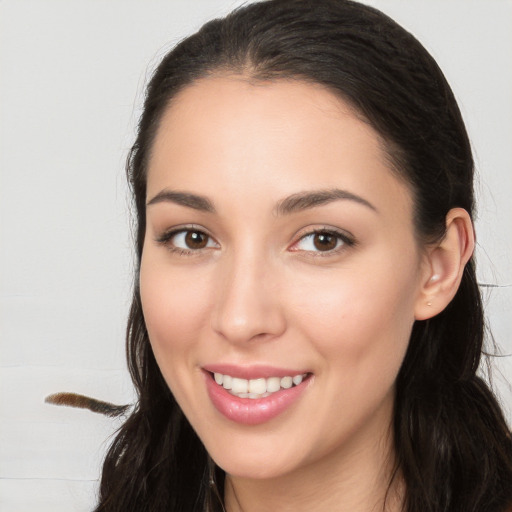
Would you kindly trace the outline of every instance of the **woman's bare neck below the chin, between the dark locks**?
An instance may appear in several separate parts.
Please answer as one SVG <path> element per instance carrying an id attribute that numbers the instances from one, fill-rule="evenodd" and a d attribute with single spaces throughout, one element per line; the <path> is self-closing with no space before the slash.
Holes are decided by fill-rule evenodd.
<path id="1" fill-rule="evenodd" d="M 357 448 L 355 446 L 358 446 Z M 391 429 L 373 445 L 355 443 L 328 457 L 272 479 L 226 475 L 227 512 L 398 512 L 403 484 L 393 478 Z"/>

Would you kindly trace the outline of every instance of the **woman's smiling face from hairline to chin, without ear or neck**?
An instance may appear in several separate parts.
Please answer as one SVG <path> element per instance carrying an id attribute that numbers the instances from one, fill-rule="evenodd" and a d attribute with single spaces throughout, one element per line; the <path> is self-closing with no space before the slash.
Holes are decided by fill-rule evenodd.
<path id="1" fill-rule="evenodd" d="M 203 79 L 163 117 L 147 203 L 151 345 L 217 464 L 272 478 L 374 450 L 424 280 L 376 132 L 317 85 Z"/>

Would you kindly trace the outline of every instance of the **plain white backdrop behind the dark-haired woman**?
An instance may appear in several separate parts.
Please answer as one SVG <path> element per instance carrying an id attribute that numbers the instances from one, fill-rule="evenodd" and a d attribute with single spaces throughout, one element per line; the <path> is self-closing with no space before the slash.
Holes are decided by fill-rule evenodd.
<path id="1" fill-rule="evenodd" d="M 489 324 L 512 352 L 512 0 L 374 0 L 451 83 L 475 149 Z M 124 161 L 159 58 L 232 0 L 0 0 L 0 510 L 87 511 L 119 423 L 44 403 L 132 400 Z M 512 417 L 512 358 L 495 380 Z"/>

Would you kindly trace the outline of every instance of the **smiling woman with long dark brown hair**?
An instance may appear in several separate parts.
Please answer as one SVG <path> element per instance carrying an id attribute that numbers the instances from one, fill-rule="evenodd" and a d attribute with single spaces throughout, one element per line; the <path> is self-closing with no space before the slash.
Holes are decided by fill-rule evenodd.
<path id="1" fill-rule="evenodd" d="M 97 510 L 505 511 L 473 162 L 421 45 L 272 0 L 162 61 L 128 161 L 139 400 Z"/>

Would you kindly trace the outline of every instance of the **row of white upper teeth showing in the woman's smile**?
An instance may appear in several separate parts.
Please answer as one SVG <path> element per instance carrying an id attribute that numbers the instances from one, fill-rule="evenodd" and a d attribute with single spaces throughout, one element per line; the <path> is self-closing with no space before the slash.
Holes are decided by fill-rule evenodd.
<path id="1" fill-rule="evenodd" d="M 240 398 L 264 398 L 280 389 L 290 389 L 292 386 L 298 386 L 306 377 L 306 374 L 286 376 L 286 377 L 269 377 L 268 379 L 239 379 L 231 377 L 231 375 L 223 375 L 222 373 L 214 373 L 215 382 L 224 389 L 230 391 L 232 395 Z"/>

